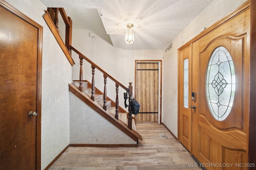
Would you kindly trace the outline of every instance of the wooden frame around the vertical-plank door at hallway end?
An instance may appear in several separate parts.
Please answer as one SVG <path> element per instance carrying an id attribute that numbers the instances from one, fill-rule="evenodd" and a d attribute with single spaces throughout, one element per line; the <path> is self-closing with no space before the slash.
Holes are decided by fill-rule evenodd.
<path id="1" fill-rule="evenodd" d="M 158 63 L 158 123 L 162 123 L 162 60 L 135 60 L 135 70 L 134 70 L 134 97 L 136 98 L 137 93 L 137 63 Z M 135 116 L 136 121 L 136 116 Z"/>

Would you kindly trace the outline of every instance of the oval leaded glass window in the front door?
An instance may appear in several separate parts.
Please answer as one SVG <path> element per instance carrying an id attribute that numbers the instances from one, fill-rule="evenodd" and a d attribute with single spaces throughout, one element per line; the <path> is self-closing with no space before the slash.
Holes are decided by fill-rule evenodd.
<path id="1" fill-rule="evenodd" d="M 225 120 L 232 108 L 235 95 L 235 68 L 228 50 L 214 49 L 206 71 L 206 99 L 212 116 Z"/>

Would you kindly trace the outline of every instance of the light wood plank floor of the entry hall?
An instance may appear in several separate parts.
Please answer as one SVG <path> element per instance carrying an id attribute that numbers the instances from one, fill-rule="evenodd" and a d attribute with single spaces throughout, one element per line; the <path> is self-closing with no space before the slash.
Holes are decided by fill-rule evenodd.
<path id="1" fill-rule="evenodd" d="M 200 169 L 189 152 L 163 125 L 137 123 L 138 147 L 69 147 L 49 170 Z M 159 135 L 163 132 L 168 139 Z"/>

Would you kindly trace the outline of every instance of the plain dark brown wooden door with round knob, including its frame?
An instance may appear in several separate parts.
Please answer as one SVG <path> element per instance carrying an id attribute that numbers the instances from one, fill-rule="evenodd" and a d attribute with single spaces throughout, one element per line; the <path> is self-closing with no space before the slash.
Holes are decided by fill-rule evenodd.
<path id="1" fill-rule="evenodd" d="M 40 169 L 41 36 L 40 25 L 0 2 L 0 169 L 3 170 Z"/>

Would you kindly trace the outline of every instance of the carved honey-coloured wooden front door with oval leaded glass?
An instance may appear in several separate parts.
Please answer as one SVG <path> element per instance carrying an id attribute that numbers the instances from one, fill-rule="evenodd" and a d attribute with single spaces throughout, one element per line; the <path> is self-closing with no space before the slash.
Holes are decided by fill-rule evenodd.
<path id="1" fill-rule="evenodd" d="M 250 9 L 192 43 L 192 154 L 208 170 L 247 169 Z"/>

